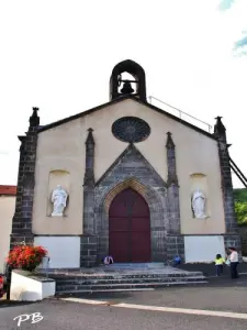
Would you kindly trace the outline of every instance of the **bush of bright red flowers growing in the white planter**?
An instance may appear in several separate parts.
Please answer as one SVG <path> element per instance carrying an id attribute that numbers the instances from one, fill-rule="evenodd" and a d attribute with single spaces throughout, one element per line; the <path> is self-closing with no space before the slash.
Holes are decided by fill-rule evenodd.
<path id="1" fill-rule="evenodd" d="M 10 251 L 8 265 L 13 268 L 33 272 L 41 263 L 47 251 L 43 246 L 16 245 Z"/>

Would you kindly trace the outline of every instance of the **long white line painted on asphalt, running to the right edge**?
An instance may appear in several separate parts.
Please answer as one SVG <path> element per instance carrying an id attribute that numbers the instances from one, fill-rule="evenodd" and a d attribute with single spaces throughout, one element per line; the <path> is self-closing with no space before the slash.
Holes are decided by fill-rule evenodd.
<path id="1" fill-rule="evenodd" d="M 203 315 L 203 316 L 214 316 L 214 317 L 247 320 L 247 314 L 232 312 L 232 311 L 216 311 L 216 310 L 214 311 L 214 310 L 202 310 L 202 309 L 143 306 L 143 305 L 133 305 L 133 304 L 116 304 L 116 305 L 113 305 L 113 307 L 165 311 L 165 312 L 177 312 L 177 314 L 189 314 L 189 315 Z"/>

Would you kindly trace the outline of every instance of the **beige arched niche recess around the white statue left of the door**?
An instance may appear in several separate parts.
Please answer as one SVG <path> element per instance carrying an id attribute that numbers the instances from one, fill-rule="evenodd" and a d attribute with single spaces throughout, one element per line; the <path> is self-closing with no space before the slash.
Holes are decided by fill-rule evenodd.
<path id="1" fill-rule="evenodd" d="M 53 204 L 50 199 L 57 185 L 60 185 L 68 194 L 67 206 L 64 211 L 64 216 L 67 217 L 69 212 L 70 173 L 65 169 L 53 169 L 49 172 L 46 216 L 52 217 Z"/>

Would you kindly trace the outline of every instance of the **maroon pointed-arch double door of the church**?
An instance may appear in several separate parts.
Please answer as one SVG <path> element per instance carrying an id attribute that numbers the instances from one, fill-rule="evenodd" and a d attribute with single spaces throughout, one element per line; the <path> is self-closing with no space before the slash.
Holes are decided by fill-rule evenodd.
<path id="1" fill-rule="evenodd" d="M 145 199 L 127 188 L 109 210 L 109 253 L 116 263 L 150 262 L 150 217 Z"/>

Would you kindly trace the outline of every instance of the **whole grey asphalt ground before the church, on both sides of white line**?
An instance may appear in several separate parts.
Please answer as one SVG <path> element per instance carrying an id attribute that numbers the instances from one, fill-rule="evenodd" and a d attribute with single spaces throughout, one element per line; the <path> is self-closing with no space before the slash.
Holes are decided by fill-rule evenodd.
<path id="1" fill-rule="evenodd" d="M 60 299 L 46 299 L 36 304 L 0 305 L 0 330 L 12 329 L 87 329 L 87 330 L 238 330 L 247 329 L 247 319 L 172 314 L 127 309 L 111 306 L 125 302 L 159 307 L 229 311 L 247 315 L 247 276 L 231 280 L 228 276 L 211 278 L 207 285 L 168 287 L 153 292 L 78 295 L 79 298 L 106 300 L 109 306 L 94 306 Z M 32 317 L 18 327 L 20 315 L 40 312 L 43 319 L 32 323 Z M 27 318 L 27 316 L 23 317 Z"/>

